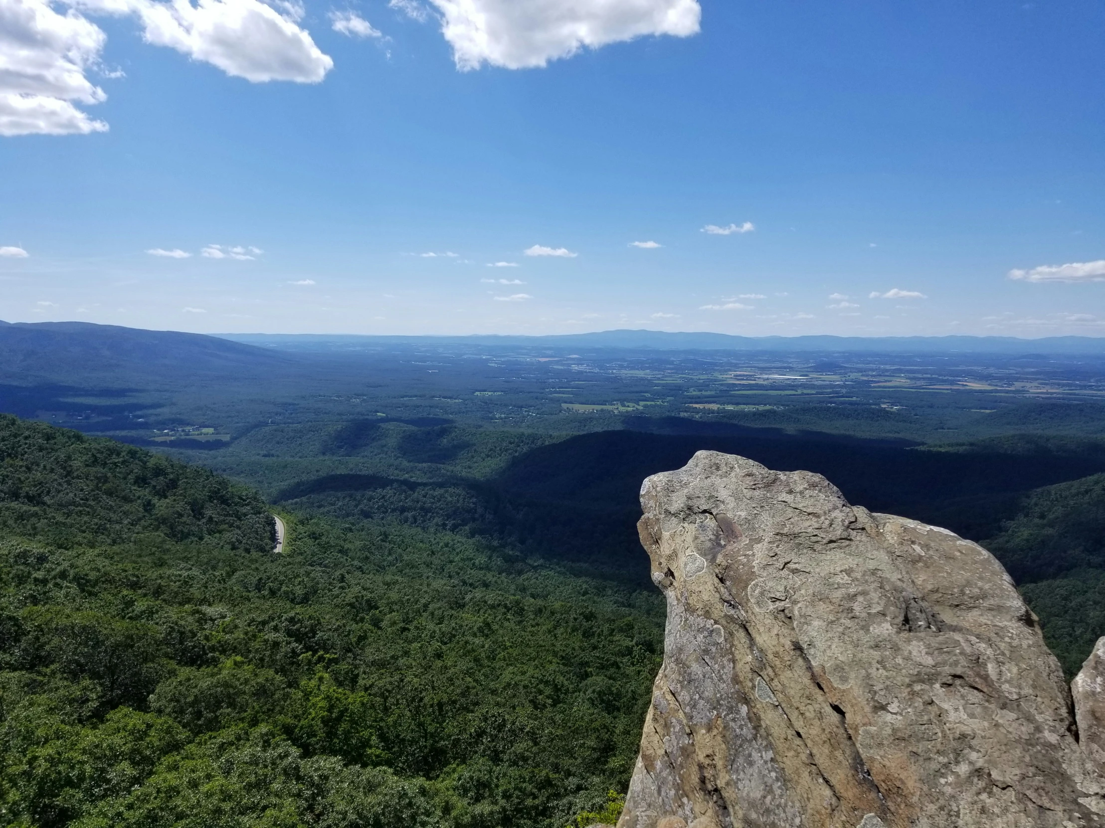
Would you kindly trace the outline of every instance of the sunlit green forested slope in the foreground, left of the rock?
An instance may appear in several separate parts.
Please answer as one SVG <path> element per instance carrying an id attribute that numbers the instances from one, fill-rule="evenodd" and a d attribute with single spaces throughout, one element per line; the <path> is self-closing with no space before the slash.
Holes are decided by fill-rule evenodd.
<path id="1" fill-rule="evenodd" d="M 288 516 L 0 417 L 0 824 L 562 828 L 624 789 L 651 593 Z"/>

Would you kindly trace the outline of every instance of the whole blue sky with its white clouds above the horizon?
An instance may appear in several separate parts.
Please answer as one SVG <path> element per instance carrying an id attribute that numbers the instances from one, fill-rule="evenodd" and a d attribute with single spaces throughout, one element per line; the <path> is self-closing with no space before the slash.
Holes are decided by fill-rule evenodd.
<path id="1" fill-rule="evenodd" d="M 0 319 L 1102 336 L 1103 35 L 1101 0 L 0 0 Z"/>

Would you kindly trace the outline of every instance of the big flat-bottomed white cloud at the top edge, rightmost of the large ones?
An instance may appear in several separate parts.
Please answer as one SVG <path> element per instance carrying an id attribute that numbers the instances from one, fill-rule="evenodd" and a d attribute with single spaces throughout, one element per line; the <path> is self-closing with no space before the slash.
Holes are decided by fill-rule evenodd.
<path id="1" fill-rule="evenodd" d="M 581 49 L 650 34 L 697 34 L 697 0 L 431 0 L 441 31 L 462 71 L 487 63 L 505 68 L 545 66 Z M 411 0 L 391 0 L 410 12 Z M 411 17 L 417 17 L 411 14 Z"/>

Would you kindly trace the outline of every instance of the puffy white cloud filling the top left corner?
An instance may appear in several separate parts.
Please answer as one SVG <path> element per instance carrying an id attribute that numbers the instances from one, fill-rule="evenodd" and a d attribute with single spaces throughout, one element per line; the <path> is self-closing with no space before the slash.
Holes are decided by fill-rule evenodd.
<path id="1" fill-rule="evenodd" d="M 107 125 L 78 104 L 107 95 L 85 73 L 99 62 L 104 32 L 48 0 L 0 0 L 0 135 L 86 135 Z"/>

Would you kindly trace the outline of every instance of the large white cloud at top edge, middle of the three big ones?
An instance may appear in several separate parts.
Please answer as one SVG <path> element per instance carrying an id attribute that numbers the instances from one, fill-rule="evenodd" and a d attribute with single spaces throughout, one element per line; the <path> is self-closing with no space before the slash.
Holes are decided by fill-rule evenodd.
<path id="1" fill-rule="evenodd" d="M 10 0 L 2 0 L 9 2 Z M 82 10 L 135 14 L 147 43 L 175 49 L 253 83 L 318 83 L 334 67 L 298 25 L 303 8 L 260 0 L 69 0 Z"/>

